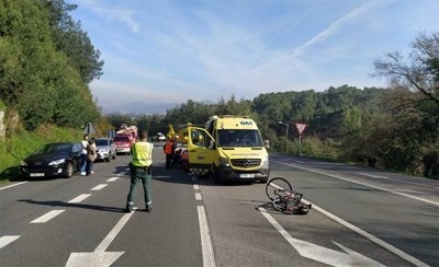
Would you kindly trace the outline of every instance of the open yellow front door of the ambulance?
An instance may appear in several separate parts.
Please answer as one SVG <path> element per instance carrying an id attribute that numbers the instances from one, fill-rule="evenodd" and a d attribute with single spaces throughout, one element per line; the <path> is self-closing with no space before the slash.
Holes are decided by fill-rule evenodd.
<path id="1" fill-rule="evenodd" d="M 195 174 L 207 174 L 216 159 L 215 141 L 203 128 L 188 130 L 189 169 Z"/>

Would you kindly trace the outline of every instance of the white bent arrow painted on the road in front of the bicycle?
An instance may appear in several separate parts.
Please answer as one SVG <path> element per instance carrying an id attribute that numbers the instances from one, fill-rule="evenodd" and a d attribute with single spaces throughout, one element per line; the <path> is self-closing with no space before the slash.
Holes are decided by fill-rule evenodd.
<path id="1" fill-rule="evenodd" d="M 342 252 L 329 249 L 311 242 L 294 239 L 286 232 L 281 224 L 273 217 L 271 217 L 266 209 L 259 208 L 261 214 L 273 225 L 273 228 L 290 243 L 290 245 L 303 257 L 314 259 L 331 266 L 384 266 L 371 258 L 368 258 L 354 251 L 349 249 L 336 242 Z"/>

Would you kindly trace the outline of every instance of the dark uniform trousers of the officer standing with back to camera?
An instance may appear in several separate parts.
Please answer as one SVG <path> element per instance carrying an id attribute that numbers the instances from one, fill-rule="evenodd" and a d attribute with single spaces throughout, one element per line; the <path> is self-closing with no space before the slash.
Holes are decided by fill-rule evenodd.
<path id="1" fill-rule="evenodd" d="M 134 206 L 135 188 L 139 181 L 144 185 L 145 205 L 146 209 L 150 209 L 153 206 L 153 196 L 150 191 L 151 182 L 151 167 L 150 166 L 132 166 L 131 171 L 131 186 L 130 193 L 126 199 L 126 209 L 132 210 Z"/>

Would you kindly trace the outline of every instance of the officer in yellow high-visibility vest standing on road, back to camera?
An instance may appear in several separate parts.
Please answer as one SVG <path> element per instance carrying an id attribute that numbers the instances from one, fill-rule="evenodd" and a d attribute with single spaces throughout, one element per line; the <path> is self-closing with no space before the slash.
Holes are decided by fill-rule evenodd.
<path id="1" fill-rule="evenodd" d="M 147 142 L 148 132 L 143 131 L 140 134 L 140 140 L 134 143 L 131 147 L 131 186 L 130 193 L 126 198 L 126 208 L 125 212 L 131 212 L 134 206 L 134 195 L 135 188 L 138 181 L 142 181 L 144 185 L 144 195 L 145 195 L 145 210 L 150 211 L 153 209 L 153 196 L 150 191 L 150 182 L 153 179 L 153 150 L 154 144 Z"/>

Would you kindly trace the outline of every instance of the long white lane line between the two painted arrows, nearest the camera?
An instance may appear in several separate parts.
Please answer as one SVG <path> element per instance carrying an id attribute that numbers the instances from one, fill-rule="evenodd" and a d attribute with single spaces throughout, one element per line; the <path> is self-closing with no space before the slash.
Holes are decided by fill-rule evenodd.
<path id="1" fill-rule="evenodd" d="M 204 206 L 196 206 L 196 209 L 199 212 L 203 267 L 215 267 L 215 256 L 213 254 L 211 232 L 209 231 L 207 217 L 204 210 Z"/>

